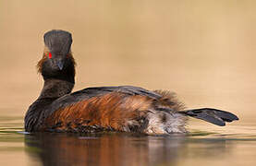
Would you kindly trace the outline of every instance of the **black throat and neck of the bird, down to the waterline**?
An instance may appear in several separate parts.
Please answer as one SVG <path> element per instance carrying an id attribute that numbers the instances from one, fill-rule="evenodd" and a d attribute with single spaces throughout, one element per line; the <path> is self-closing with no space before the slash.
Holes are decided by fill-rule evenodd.
<path id="1" fill-rule="evenodd" d="M 51 103 L 70 93 L 75 84 L 75 67 L 71 61 L 63 70 L 53 70 L 46 61 L 40 72 L 44 79 L 43 89 L 39 98 L 30 105 L 25 116 L 25 130 L 29 132 L 40 129 Z"/>

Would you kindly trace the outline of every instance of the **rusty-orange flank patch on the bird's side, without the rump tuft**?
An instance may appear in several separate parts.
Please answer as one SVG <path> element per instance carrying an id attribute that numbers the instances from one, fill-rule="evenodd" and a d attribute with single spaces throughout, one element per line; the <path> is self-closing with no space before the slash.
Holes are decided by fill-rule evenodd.
<path id="1" fill-rule="evenodd" d="M 152 100 L 145 96 L 111 92 L 59 109 L 46 119 L 45 125 L 53 126 L 61 122 L 57 129 L 79 130 L 83 125 L 99 125 L 123 131 L 128 130 L 128 121 L 144 116 L 151 106 Z"/>

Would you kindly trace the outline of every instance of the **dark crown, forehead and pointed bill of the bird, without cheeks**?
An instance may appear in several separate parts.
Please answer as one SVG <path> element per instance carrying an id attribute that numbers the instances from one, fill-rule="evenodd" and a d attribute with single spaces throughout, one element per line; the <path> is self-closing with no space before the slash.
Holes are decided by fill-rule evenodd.
<path id="1" fill-rule="evenodd" d="M 72 44 L 71 33 L 65 30 L 50 30 L 44 34 L 43 40 L 49 51 L 48 58 L 62 70 Z"/>

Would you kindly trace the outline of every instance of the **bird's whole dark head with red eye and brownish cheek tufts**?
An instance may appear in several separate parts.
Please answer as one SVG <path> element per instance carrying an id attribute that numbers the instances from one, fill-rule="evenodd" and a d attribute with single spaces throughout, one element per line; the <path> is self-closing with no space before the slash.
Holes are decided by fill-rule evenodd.
<path id="1" fill-rule="evenodd" d="M 43 36 L 45 50 L 38 63 L 43 78 L 65 79 L 70 82 L 75 76 L 75 61 L 70 51 L 71 33 L 65 30 L 50 30 Z"/>

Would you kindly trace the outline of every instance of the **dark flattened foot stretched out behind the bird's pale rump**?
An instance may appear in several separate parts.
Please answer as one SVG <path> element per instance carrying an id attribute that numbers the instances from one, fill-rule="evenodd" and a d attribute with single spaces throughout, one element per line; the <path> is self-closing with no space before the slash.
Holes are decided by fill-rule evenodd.
<path id="1" fill-rule="evenodd" d="M 225 111 L 216 110 L 212 108 L 194 109 L 179 113 L 184 113 L 191 117 L 201 119 L 214 125 L 220 126 L 226 125 L 226 122 L 230 123 L 232 121 L 238 120 L 238 116 L 233 113 L 228 113 Z"/>

